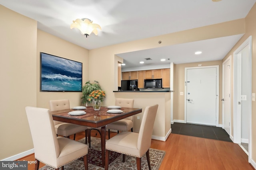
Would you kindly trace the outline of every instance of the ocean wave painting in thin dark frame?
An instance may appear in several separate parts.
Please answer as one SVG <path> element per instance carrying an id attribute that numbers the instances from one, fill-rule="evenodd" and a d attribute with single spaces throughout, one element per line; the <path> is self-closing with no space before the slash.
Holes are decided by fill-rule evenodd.
<path id="1" fill-rule="evenodd" d="M 82 92 L 82 63 L 40 52 L 41 92 Z"/>

